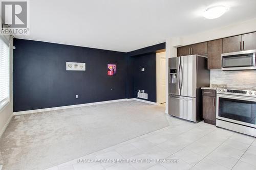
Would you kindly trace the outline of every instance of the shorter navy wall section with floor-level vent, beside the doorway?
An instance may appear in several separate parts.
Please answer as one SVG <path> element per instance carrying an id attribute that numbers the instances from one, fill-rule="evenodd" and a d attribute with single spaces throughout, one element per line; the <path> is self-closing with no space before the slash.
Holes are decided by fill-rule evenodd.
<path id="1" fill-rule="evenodd" d="M 137 98 L 138 90 L 145 90 L 148 101 L 156 102 L 156 53 L 164 49 L 165 42 L 127 53 L 127 98 Z"/>

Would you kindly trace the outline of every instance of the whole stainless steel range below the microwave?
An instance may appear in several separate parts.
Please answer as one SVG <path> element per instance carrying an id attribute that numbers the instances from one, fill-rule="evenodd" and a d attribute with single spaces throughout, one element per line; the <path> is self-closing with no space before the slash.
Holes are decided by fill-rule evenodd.
<path id="1" fill-rule="evenodd" d="M 256 137 L 256 91 L 217 89 L 216 126 Z"/>

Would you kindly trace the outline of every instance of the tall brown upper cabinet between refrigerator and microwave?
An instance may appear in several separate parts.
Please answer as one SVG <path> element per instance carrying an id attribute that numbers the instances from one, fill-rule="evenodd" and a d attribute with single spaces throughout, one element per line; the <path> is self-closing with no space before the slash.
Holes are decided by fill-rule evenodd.
<path id="1" fill-rule="evenodd" d="M 208 69 L 221 69 L 222 39 L 207 42 Z"/>

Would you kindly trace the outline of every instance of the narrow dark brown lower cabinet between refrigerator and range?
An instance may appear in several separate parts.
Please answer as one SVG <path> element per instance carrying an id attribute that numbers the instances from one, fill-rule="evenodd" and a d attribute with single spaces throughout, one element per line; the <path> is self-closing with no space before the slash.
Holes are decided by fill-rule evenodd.
<path id="1" fill-rule="evenodd" d="M 216 125 L 216 90 L 203 89 L 204 122 Z"/>

